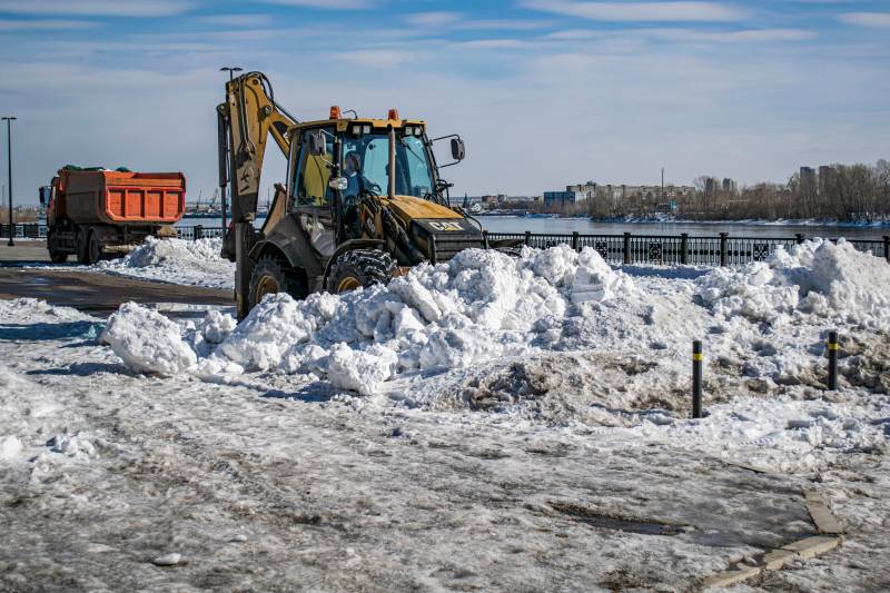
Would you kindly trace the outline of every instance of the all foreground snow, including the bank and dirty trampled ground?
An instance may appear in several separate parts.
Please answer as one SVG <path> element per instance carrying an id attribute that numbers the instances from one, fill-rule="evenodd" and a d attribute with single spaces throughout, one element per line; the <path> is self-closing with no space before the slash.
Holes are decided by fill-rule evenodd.
<path id="1" fill-rule="evenodd" d="M 0 302 L 0 585 L 686 591 L 812 534 L 805 486 L 843 546 L 742 589 L 886 590 L 881 266 L 820 241 L 731 278 L 469 251 L 237 326 L 128 304 L 103 332 Z"/>

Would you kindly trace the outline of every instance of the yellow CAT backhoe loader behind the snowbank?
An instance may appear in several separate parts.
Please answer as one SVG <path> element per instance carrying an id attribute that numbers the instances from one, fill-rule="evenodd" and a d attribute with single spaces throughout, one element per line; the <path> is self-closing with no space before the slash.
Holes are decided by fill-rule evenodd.
<path id="1" fill-rule="evenodd" d="M 217 112 L 222 191 L 231 179 L 233 228 L 222 253 L 236 261 L 239 318 L 269 293 L 342 293 L 488 247 L 482 225 L 449 205 L 449 184 L 439 177 L 464 158 L 457 135 L 429 139 L 424 121 L 395 109 L 374 119 L 332 107 L 328 119 L 299 122 L 275 101 L 261 72 L 228 82 Z M 269 135 L 287 158 L 287 177 L 257 230 Z M 443 140 L 453 162 L 438 166 L 433 144 Z"/>

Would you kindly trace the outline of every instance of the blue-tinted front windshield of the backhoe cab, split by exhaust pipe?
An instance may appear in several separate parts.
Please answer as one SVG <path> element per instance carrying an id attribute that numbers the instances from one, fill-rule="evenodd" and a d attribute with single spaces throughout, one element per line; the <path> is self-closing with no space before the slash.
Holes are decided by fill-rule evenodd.
<path id="1" fill-rule="evenodd" d="M 366 134 L 343 139 L 344 197 L 362 190 L 386 194 L 389 184 L 389 135 Z M 396 194 L 431 199 L 433 168 L 423 137 L 396 134 Z"/>

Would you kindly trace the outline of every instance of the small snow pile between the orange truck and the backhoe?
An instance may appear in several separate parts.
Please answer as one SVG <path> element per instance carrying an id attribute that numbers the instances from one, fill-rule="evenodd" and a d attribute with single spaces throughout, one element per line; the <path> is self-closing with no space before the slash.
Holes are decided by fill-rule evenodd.
<path id="1" fill-rule="evenodd" d="M 89 269 L 131 278 L 211 288 L 231 288 L 235 264 L 220 257 L 222 239 L 156 239 L 148 237 L 119 259 L 99 261 Z"/>

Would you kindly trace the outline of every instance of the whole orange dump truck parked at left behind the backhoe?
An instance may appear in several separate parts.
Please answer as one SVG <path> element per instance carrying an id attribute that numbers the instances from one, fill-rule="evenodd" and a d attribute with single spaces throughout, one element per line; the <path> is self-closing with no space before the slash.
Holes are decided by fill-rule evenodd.
<path id="1" fill-rule="evenodd" d="M 66 167 L 40 188 L 52 261 L 77 255 L 81 264 L 126 254 L 146 237 L 176 237 L 186 209 L 181 172 Z"/>

